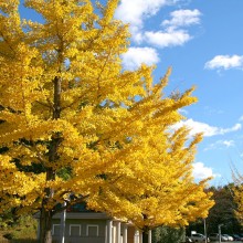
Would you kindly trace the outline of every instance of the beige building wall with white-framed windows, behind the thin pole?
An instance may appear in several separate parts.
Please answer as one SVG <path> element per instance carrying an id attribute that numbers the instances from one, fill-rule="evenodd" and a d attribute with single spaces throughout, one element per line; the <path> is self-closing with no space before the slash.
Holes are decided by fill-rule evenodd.
<path id="1" fill-rule="evenodd" d="M 60 242 L 60 220 L 53 220 L 53 243 Z M 65 222 L 65 243 L 106 243 L 106 220 L 76 220 Z"/>

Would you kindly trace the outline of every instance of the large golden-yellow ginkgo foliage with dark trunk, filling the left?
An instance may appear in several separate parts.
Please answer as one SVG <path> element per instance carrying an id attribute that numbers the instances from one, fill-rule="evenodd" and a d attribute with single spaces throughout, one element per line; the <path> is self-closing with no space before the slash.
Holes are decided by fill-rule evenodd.
<path id="1" fill-rule="evenodd" d="M 142 231 L 205 216 L 207 181 L 192 177 L 201 135 L 171 129 L 193 88 L 166 96 L 170 70 L 155 82 L 152 66 L 123 68 L 118 0 L 25 0 L 39 22 L 20 4 L 0 2 L 0 211 L 40 211 L 45 243 L 64 201 Z"/>

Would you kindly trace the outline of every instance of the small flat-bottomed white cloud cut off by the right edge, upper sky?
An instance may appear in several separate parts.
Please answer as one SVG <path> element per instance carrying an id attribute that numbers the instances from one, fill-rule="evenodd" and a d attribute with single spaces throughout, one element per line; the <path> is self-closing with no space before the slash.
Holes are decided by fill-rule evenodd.
<path id="1" fill-rule="evenodd" d="M 230 70 L 230 68 L 243 68 L 242 55 L 216 55 L 204 65 L 207 70 Z"/>

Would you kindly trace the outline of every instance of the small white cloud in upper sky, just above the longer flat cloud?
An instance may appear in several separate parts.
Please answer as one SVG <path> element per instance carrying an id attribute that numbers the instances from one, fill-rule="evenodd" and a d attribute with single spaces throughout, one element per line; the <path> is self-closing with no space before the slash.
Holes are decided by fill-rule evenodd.
<path id="1" fill-rule="evenodd" d="M 170 13 L 171 20 L 162 21 L 162 25 L 176 29 L 179 27 L 189 27 L 192 24 L 199 24 L 200 15 L 201 15 L 201 12 L 198 9 L 177 10 Z"/>

